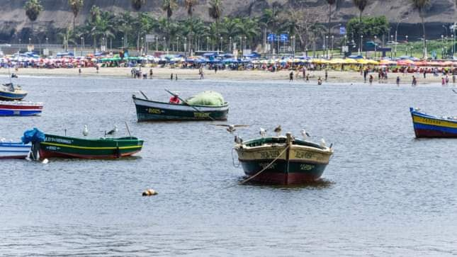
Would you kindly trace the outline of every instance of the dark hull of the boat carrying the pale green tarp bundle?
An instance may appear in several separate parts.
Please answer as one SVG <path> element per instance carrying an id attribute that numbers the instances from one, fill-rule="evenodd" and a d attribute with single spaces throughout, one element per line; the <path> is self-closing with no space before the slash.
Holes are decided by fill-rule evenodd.
<path id="1" fill-rule="evenodd" d="M 227 120 L 228 105 L 176 105 L 133 97 L 138 122 L 163 120 Z"/>

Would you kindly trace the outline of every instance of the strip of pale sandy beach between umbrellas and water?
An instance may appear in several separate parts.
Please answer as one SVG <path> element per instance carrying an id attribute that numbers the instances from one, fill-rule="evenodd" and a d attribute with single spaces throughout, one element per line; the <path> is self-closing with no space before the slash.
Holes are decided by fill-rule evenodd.
<path id="1" fill-rule="evenodd" d="M 81 74 L 79 74 L 78 69 L 35 69 L 35 68 L 21 68 L 18 72 L 13 71 L 18 74 L 18 76 L 105 76 L 105 77 L 118 77 L 118 78 L 130 78 L 129 67 L 103 67 L 100 68 L 98 73 L 94 67 L 82 68 Z M 142 68 L 143 72 L 149 74 L 148 67 Z M 178 75 L 178 79 L 200 79 L 198 75 L 198 69 L 171 69 L 171 68 L 158 68 L 154 67 L 153 70 L 153 79 L 170 79 L 171 74 Z M 257 70 L 245 70 L 245 71 L 228 71 L 228 70 L 218 70 L 215 73 L 213 70 L 204 70 L 204 79 L 210 80 L 233 80 L 233 81 L 288 81 L 290 71 L 283 70 L 280 72 L 266 72 L 266 71 L 257 71 Z M 8 69 L 0 69 L 0 75 L 9 74 Z M 294 73 L 295 74 L 295 73 Z M 378 83 L 378 74 L 371 73 L 375 77 L 373 84 Z M 322 80 L 325 78 L 325 71 L 310 71 L 310 81 L 308 83 L 317 84 L 317 78 L 321 77 Z M 369 76 L 369 75 L 368 75 Z M 388 74 L 389 78 L 383 83 L 395 84 L 395 79 L 397 76 L 400 76 L 400 84 L 411 84 L 412 76 L 416 76 L 418 79 L 418 84 L 441 84 L 441 76 L 433 76 L 433 74 L 427 74 L 427 78 L 424 79 L 423 74 Z M 148 76 L 149 79 L 149 76 Z M 294 75 L 294 81 L 305 82 L 302 74 L 300 73 L 297 77 Z M 363 82 L 363 76 L 359 72 L 337 72 L 329 71 L 328 72 L 328 82 L 331 83 L 361 83 Z M 452 84 L 452 76 L 449 76 L 449 81 Z M 367 82 L 368 83 L 368 82 Z"/>

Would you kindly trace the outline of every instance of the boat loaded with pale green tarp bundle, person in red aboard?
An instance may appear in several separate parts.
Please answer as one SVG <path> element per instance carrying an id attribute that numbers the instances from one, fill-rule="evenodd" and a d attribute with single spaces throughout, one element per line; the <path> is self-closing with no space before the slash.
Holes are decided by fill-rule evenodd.
<path id="1" fill-rule="evenodd" d="M 168 91 L 171 93 L 170 91 Z M 177 103 L 152 101 L 133 95 L 133 102 L 137 110 L 138 122 L 163 120 L 227 120 L 229 104 L 222 95 L 213 91 L 205 91 L 186 100 L 179 98 Z"/>

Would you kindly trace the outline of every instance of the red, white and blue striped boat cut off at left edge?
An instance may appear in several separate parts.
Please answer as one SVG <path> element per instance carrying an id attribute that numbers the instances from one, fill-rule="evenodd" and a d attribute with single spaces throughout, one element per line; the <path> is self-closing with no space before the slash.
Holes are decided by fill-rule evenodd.
<path id="1" fill-rule="evenodd" d="M 0 101 L 0 116 L 32 116 L 43 111 L 43 103 Z"/>

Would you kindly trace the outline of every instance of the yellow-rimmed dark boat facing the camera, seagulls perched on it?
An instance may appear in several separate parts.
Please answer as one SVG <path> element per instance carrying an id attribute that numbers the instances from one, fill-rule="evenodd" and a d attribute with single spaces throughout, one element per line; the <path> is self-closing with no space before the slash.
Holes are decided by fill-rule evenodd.
<path id="1" fill-rule="evenodd" d="M 332 146 L 295 139 L 290 133 L 238 142 L 235 151 L 249 179 L 278 185 L 319 180 L 333 154 Z"/>

